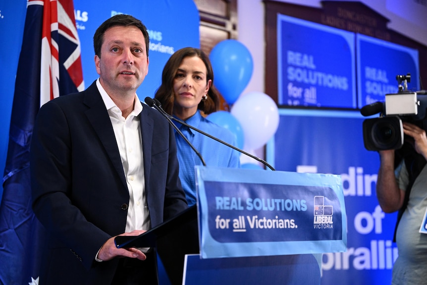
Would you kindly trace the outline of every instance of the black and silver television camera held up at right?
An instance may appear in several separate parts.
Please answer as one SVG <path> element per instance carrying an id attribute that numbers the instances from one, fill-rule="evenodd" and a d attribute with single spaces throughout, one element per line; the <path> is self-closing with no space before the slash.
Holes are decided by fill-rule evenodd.
<path id="1" fill-rule="evenodd" d="M 380 113 L 378 118 L 363 121 L 363 141 L 367 150 L 400 149 L 404 143 L 402 122 L 410 122 L 426 129 L 427 93 L 425 90 L 408 91 L 411 74 L 397 75 L 398 92 L 386 94 L 384 102 L 364 106 L 360 113 L 371 116 Z"/>

